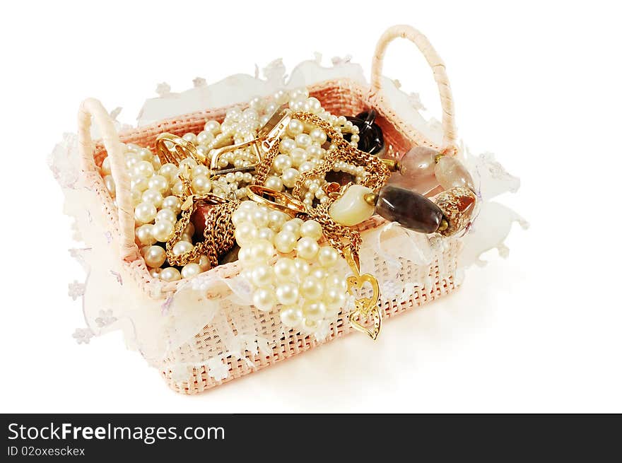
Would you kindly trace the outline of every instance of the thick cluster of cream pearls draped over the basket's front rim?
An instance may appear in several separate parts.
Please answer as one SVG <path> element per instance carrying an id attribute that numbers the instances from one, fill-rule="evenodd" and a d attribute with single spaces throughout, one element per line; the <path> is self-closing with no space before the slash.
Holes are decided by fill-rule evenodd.
<path id="1" fill-rule="evenodd" d="M 336 266 L 337 250 L 320 247 L 322 226 L 242 201 L 231 217 L 240 245 L 240 278 L 253 288 L 253 305 L 280 307 L 285 327 L 314 333 L 329 324 L 346 304 L 347 284 Z M 276 260 L 274 257 L 276 256 Z"/>

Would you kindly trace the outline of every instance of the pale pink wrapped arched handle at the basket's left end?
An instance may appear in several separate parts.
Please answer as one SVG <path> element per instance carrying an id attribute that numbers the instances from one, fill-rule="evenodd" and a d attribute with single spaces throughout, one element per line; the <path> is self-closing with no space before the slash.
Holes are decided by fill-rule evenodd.
<path id="1" fill-rule="evenodd" d="M 125 170 L 123 148 L 115 125 L 101 102 L 94 98 L 84 100 L 78 111 L 78 143 L 84 172 L 97 172 L 93 158 L 93 139 L 90 136 L 91 119 L 94 119 L 102 134 L 102 142 L 110 158 L 112 179 L 115 180 L 119 235 L 121 236 L 119 252 L 121 252 L 122 259 L 131 262 L 139 254 L 134 242 L 134 207 L 131 202 L 129 175 Z"/>

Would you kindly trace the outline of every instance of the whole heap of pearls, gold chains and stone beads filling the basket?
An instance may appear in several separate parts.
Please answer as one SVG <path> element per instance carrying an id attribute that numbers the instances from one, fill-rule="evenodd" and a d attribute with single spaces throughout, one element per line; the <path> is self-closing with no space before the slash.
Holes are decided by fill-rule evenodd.
<path id="1" fill-rule="evenodd" d="M 348 293 L 356 298 L 368 283 L 371 297 L 356 298 L 348 317 L 375 339 L 379 290 L 374 276 L 360 274 L 353 227 L 377 213 L 453 235 L 469 225 L 476 197 L 449 150 L 378 158 L 386 149 L 374 119 L 373 110 L 331 115 L 306 89 L 280 90 L 231 108 L 198 134 L 160 134 L 157 156 L 125 145 L 136 244 L 151 276 L 172 282 L 238 260 L 254 307 L 278 307 L 284 326 L 306 333 L 334 321 Z M 107 158 L 100 172 L 114 198 Z M 414 191 L 421 184 L 444 191 L 428 199 Z M 341 259 L 353 276 L 338 273 Z"/>

